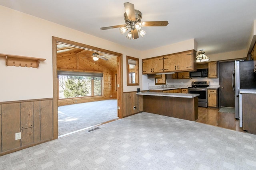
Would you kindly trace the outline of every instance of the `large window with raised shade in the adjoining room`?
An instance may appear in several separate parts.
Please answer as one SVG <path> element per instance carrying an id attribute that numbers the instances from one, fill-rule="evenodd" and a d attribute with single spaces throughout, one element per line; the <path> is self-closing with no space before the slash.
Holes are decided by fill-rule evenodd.
<path id="1" fill-rule="evenodd" d="M 102 96 L 102 73 L 58 71 L 59 99 Z"/>

